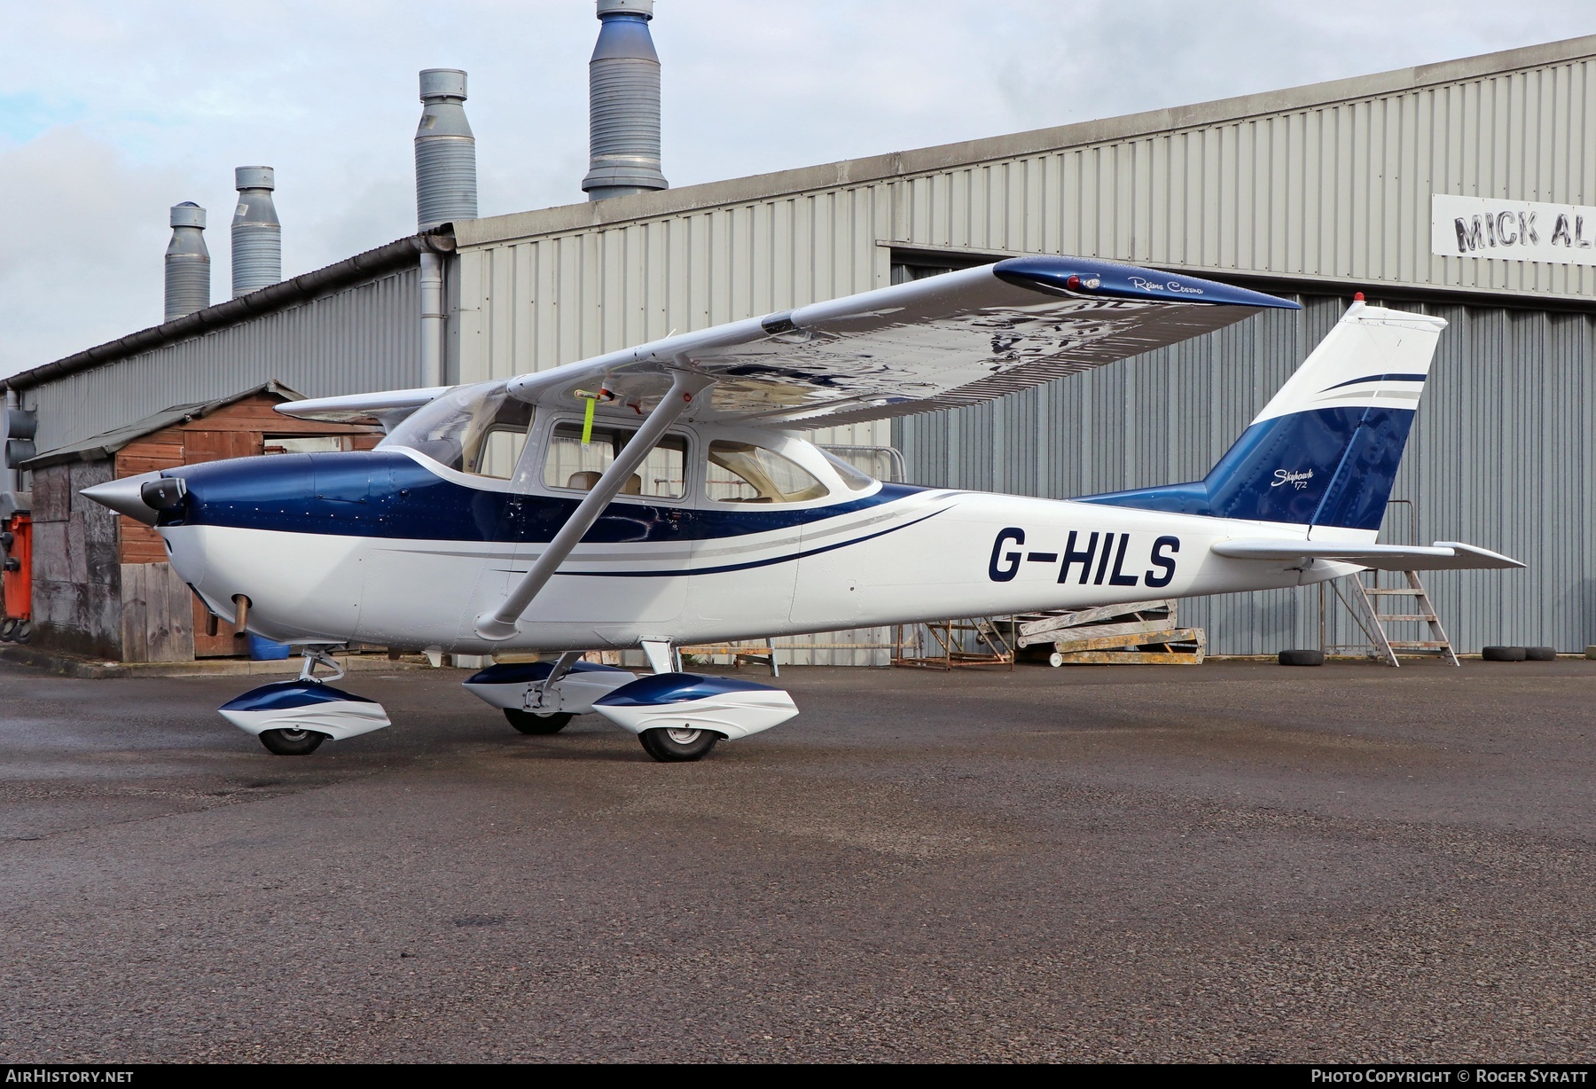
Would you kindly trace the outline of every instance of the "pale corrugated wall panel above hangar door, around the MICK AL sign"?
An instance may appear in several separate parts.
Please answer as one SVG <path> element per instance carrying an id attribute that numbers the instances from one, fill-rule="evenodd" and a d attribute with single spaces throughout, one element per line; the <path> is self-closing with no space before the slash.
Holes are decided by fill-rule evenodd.
<path id="1" fill-rule="evenodd" d="M 1596 62 L 891 182 L 900 243 L 1588 294 L 1596 268 L 1435 257 L 1430 196 L 1596 203 Z"/>

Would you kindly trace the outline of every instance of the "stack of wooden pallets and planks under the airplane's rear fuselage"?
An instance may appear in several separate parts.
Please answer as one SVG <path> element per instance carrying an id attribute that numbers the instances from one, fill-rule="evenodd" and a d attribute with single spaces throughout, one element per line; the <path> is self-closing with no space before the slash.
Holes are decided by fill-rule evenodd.
<path id="1" fill-rule="evenodd" d="M 1179 626 L 1173 599 L 1025 613 L 1013 624 L 1021 650 L 1052 644 L 1052 666 L 1197 666 L 1207 648 L 1202 628 Z"/>

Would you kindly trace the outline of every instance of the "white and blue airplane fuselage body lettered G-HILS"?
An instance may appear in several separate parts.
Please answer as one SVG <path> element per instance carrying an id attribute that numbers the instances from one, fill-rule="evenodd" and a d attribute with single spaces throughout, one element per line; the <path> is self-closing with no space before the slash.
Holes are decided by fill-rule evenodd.
<path id="1" fill-rule="evenodd" d="M 702 433 L 681 431 L 689 450 L 702 446 Z M 247 597 L 262 636 L 460 653 L 702 644 L 1272 589 L 1355 570 L 1210 552 L 1234 537 L 1301 540 L 1307 527 L 862 484 L 801 439 L 777 444 L 824 497 L 715 501 L 694 479 L 702 457 L 694 468 L 689 455 L 683 497 L 610 503 L 508 642 L 480 639 L 476 618 L 504 600 L 581 500 L 536 474 L 484 477 L 407 447 L 214 461 L 182 469 L 187 503 L 158 529 L 211 608 L 231 620 Z"/>

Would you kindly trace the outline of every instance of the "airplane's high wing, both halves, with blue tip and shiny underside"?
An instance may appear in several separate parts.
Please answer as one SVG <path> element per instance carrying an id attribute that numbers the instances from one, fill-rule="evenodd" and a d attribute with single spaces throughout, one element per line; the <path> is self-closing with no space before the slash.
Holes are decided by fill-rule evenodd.
<path id="1" fill-rule="evenodd" d="M 693 370 L 713 382 L 697 418 L 814 428 L 991 401 L 1266 308 L 1298 305 L 1133 265 L 1015 257 L 527 374 L 511 378 L 509 391 L 562 407 L 597 396 L 646 414 L 672 372 Z M 383 401 L 394 396 L 298 401 L 284 410 L 397 409 Z"/>

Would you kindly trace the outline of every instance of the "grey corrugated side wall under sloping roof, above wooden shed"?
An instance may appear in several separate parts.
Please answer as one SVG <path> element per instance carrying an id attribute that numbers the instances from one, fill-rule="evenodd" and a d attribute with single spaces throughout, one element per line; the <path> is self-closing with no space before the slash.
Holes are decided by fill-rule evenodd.
<path id="1" fill-rule="evenodd" d="M 24 402 L 38 409 L 38 449 L 268 380 L 311 398 L 420 385 L 417 278 L 407 268 L 27 390 Z"/>

